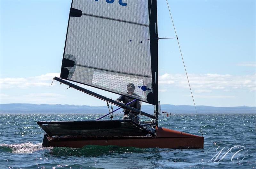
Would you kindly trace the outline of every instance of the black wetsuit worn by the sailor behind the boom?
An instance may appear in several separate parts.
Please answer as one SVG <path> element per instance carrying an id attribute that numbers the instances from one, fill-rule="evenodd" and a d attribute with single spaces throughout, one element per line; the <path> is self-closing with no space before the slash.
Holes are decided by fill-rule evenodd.
<path id="1" fill-rule="evenodd" d="M 137 96 L 137 97 L 140 97 L 139 95 L 137 95 L 137 94 L 135 94 L 135 93 L 133 93 L 132 95 L 135 95 L 135 96 Z M 133 101 L 134 98 L 121 95 L 121 96 L 118 97 L 118 99 L 116 99 L 116 100 L 118 100 L 119 102 L 122 101 L 124 104 L 126 104 L 126 103 L 129 103 L 129 102 Z M 136 99 L 136 101 L 130 103 L 129 106 L 131 106 L 131 107 L 133 107 L 133 108 L 135 108 L 135 109 L 140 110 L 140 101 Z M 129 109 L 125 109 L 125 110 L 124 110 L 124 114 L 125 114 L 125 115 L 126 115 L 126 114 L 129 114 L 129 113 L 130 113 L 130 110 L 129 110 Z M 136 113 L 136 112 L 131 112 L 131 113 L 134 114 L 134 115 L 135 115 L 135 114 L 138 115 L 138 113 Z"/>

